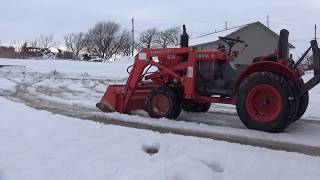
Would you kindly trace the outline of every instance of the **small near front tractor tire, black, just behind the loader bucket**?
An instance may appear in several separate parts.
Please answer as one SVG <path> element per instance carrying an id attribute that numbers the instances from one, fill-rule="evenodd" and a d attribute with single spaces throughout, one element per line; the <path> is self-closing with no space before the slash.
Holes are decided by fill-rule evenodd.
<path id="1" fill-rule="evenodd" d="M 165 111 L 159 111 L 159 107 L 156 107 L 155 97 L 165 98 L 166 108 Z M 168 119 L 176 119 L 181 113 L 181 103 L 179 98 L 175 95 L 174 91 L 167 86 L 159 86 L 150 91 L 147 102 L 146 109 L 150 117 L 152 118 L 168 118 Z"/>

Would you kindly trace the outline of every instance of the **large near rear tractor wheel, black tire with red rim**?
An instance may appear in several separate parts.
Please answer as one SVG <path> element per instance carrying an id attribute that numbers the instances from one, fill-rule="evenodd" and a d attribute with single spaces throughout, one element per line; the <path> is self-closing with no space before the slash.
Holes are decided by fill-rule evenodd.
<path id="1" fill-rule="evenodd" d="M 271 133 L 282 132 L 297 113 L 288 81 L 271 72 L 253 73 L 240 85 L 236 108 L 247 128 Z"/>

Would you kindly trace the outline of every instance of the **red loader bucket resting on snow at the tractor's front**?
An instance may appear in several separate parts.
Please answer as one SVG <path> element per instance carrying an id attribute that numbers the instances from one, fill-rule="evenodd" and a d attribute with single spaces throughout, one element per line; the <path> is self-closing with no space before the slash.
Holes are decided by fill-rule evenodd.
<path id="1" fill-rule="evenodd" d="M 103 112 L 123 112 L 124 91 L 125 85 L 110 85 L 97 108 Z"/>

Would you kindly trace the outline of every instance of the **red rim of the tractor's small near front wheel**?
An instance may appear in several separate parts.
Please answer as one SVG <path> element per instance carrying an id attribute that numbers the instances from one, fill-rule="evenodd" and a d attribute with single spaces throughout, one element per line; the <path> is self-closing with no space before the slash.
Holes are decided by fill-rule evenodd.
<path id="1" fill-rule="evenodd" d="M 160 116 L 165 116 L 170 109 L 169 98 L 163 94 L 156 94 L 152 98 L 152 110 Z"/>

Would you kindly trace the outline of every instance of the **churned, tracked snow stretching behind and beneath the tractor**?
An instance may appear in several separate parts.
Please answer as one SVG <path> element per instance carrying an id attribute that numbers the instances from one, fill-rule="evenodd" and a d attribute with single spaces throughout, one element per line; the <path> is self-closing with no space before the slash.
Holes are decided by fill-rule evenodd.
<path id="1" fill-rule="evenodd" d="M 46 73 L 36 72 L 36 70 L 33 68 L 39 67 L 37 62 L 41 61 L 34 60 L 33 64 L 35 64 L 35 66 L 28 66 L 26 68 L 1 68 L 0 77 L 3 77 L 3 81 L 11 84 L 12 89 L 8 90 L 7 88 L 5 91 L 0 89 L 0 95 L 6 97 L 13 96 L 14 98 L 23 99 L 34 104 L 36 107 L 54 106 L 56 111 L 60 112 L 64 111 L 65 109 L 76 109 L 80 112 L 94 114 L 99 117 L 148 124 L 157 127 L 173 127 L 184 130 L 215 133 L 223 136 L 246 137 L 259 139 L 261 141 L 268 140 L 278 143 L 285 142 L 320 147 L 320 123 L 315 123 L 312 121 L 298 121 L 297 123 L 289 126 L 285 132 L 281 134 L 269 134 L 251 131 L 244 127 L 237 116 L 224 115 L 236 115 L 236 110 L 233 105 L 214 104 L 211 106 L 210 112 L 205 114 L 190 114 L 182 112 L 178 118 L 178 122 L 167 119 L 152 119 L 149 118 L 147 113 L 144 111 L 133 112 L 134 116 L 118 113 L 102 113 L 95 107 L 95 104 L 100 101 L 103 93 L 106 90 L 106 87 L 113 83 L 124 83 L 126 81 L 125 79 L 121 80 L 118 78 L 103 77 L 96 79 L 96 77 L 93 75 L 84 76 L 81 74 L 89 73 L 85 71 L 79 71 L 76 73 L 78 75 L 56 73 L 58 75 L 53 77 L 52 72 L 50 72 L 52 70 L 50 66 L 43 66 L 47 67 L 47 69 L 44 69 L 44 72 Z M 51 63 L 50 61 L 44 62 Z M 69 63 L 68 61 L 61 62 Z M 116 63 L 121 64 L 123 62 Z M 100 63 L 92 64 L 95 67 L 101 66 Z M 127 62 L 123 63 L 122 66 L 127 64 Z M 111 64 L 108 63 L 107 65 Z M 112 70 L 114 67 L 113 65 L 107 65 L 104 67 L 105 71 Z M 81 70 L 81 68 L 78 68 L 77 66 L 81 66 L 81 63 L 74 63 L 73 65 L 74 68 Z M 126 67 L 122 67 L 122 69 L 126 69 Z M 119 77 L 121 74 L 123 74 L 123 72 L 119 71 L 117 74 L 115 74 L 115 76 Z M 124 74 L 127 73 L 125 72 Z M 70 76 L 72 76 L 72 78 L 68 78 Z M 310 78 L 310 76 L 310 73 L 306 74 L 306 78 Z M 1 87 L 5 86 L 7 85 L 1 85 Z M 319 99 L 317 97 L 319 96 L 320 90 L 319 86 L 317 86 L 313 91 L 311 91 L 310 97 L 316 98 L 310 99 L 310 106 L 307 113 L 304 115 L 305 118 L 319 121 L 320 116 L 317 114 L 317 99 Z"/>

